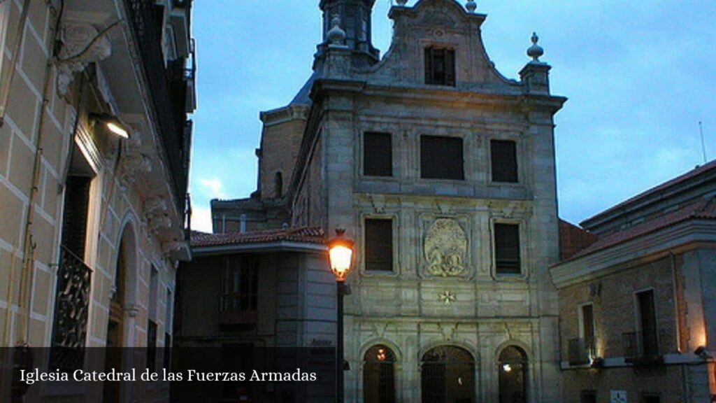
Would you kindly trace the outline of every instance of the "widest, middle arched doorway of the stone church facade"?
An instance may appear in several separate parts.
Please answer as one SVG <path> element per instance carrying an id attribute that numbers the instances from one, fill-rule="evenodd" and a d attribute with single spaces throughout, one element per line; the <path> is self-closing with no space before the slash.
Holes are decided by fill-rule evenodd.
<path id="1" fill-rule="evenodd" d="M 475 402 L 475 360 L 469 351 L 439 346 L 422 356 L 422 401 Z"/>

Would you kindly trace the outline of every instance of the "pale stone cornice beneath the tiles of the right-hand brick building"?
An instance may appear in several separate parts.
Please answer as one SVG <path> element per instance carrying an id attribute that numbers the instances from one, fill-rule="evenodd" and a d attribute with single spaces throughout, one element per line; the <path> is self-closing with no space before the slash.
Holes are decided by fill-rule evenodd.
<path id="1" fill-rule="evenodd" d="M 628 270 L 644 261 L 658 259 L 668 252 L 683 252 L 703 244 L 716 246 L 716 224 L 709 220 L 695 219 L 576 260 L 558 263 L 551 267 L 549 272 L 556 288 L 561 289 Z"/>

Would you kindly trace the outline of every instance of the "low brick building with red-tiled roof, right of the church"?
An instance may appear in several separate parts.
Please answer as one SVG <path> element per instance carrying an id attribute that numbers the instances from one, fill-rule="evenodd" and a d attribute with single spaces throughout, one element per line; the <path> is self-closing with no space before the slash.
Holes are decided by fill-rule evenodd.
<path id="1" fill-rule="evenodd" d="M 716 162 L 581 223 L 551 267 L 565 402 L 712 402 Z"/>

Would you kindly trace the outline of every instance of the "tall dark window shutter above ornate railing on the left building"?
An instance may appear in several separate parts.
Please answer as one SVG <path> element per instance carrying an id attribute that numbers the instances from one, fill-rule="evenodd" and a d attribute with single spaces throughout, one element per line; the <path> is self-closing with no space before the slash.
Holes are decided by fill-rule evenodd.
<path id="1" fill-rule="evenodd" d="M 80 259 L 84 257 L 84 242 L 87 237 L 91 181 L 92 178 L 85 176 L 68 176 L 64 191 L 62 245 Z"/>

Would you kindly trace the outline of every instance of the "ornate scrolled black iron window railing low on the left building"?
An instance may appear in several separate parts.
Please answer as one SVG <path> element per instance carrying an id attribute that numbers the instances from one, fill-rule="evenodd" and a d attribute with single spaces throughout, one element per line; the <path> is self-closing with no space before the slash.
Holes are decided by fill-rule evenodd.
<path id="1" fill-rule="evenodd" d="M 91 279 L 92 270 L 84 261 L 66 247 L 60 247 L 51 369 L 70 370 L 84 366 Z"/>

